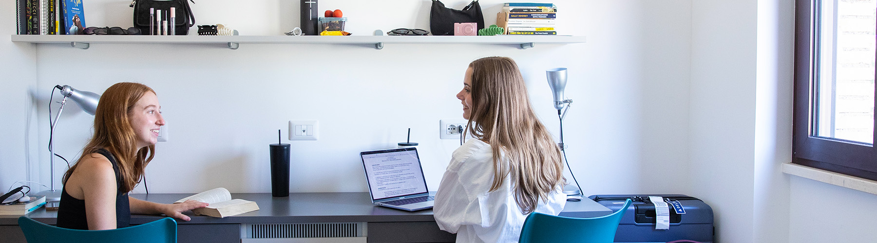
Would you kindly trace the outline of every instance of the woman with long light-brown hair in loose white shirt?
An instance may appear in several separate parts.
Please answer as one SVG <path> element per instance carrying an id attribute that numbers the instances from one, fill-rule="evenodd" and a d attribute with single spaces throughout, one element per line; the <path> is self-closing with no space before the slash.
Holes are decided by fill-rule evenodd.
<path id="1" fill-rule="evenodd" d="M 514 60 L 469 64 L 457 99 L 475 139 L 453 151 L 433 209 L 457 242 L 517 242 L 527 215 L 566 204 L 560 148 L 528 97 Z"/>

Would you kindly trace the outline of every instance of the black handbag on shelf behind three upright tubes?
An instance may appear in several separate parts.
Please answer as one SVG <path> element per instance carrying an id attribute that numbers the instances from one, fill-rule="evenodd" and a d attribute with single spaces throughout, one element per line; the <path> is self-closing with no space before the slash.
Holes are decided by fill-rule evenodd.
<path id="1" fill-rule="evenodd" d="M 192 3 L 195 3 L 194 0 Z M 168 12 L 170 8 L 175 8 L 176 19 L 175 23 L 168 23 L 173 26 L 176 31 L 176 35 L 188 35 L 189 28 L 195 25 L 195 15 L 192 14 L 192 8 L 189 7 L 189 1 L 187 0 L 133 0 L 131 2 L 131 7 L 134 8 L 134 27 L 140 29 L 140 32 L 144 35 L 149 34 L 149 23 L 150 21 L 154 21 L 150 17 L 149 9 L 154 9 L 156 11 L 163 10 Z M 170 16 L 162 16 L 163 19 L 168 19 L 170 21 Z M 155 26 L 156 30 L 158 30 L 159 26 Z"/>

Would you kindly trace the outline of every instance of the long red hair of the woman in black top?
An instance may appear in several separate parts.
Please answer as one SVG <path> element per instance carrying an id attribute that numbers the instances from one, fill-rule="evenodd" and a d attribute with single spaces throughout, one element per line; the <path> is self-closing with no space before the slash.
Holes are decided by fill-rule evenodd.
<path id="1" fill-rule="evenodd" d="M 155 145 L 137 149 L 137 135 L 131 126 L 130 114 L 146 92 L 155 94 L 152 88 L 143 84 L 126 82 L 117 83 L 103 92 L 95 111 L 95 135 L 82 149 L 77 163 L 64 173 L 64 183 L 76 170 L 78 161 L 99 149 L 107 149 L 116 158 L 121 176 L 118 178 L 121 183 L 119 190 L 132 191 L 140 183 L 146 164 L 153 160 Z"/>

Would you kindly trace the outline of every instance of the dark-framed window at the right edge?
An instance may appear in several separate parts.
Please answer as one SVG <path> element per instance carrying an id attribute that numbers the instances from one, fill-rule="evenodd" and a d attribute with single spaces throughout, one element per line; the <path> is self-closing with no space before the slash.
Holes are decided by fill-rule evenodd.
<path id="1" fill-rule="evenodd" d="M 793 163 L 877 180 L 877 0 L 798 0 Z"/>

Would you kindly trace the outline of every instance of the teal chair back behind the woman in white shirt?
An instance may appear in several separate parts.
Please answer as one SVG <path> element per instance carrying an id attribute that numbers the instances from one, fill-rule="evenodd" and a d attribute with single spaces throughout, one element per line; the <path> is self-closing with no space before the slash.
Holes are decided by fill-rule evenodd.
<path id="1" fill-rule="evenodd" d="M 631 199 L 627 199 L 621 210 L 597 218 L 567 218 L 532 212 L 524 221 L 518 242 L 612 243 L 618 222 L 630 205 Z"/>

